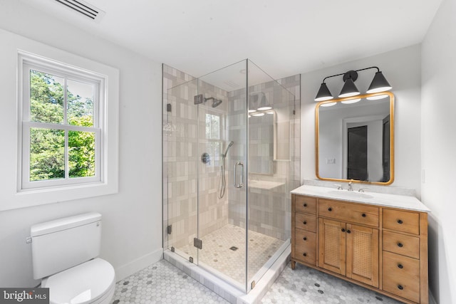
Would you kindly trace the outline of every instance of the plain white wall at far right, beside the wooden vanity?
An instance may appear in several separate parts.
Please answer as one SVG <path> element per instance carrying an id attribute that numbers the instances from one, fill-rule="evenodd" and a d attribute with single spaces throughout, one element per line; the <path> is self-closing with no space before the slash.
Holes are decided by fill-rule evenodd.
<path id="1" fill-rule="evenodd" d="M 422 46 L 422 201 L 429 215 L 429 283 L 456 303 L 456 4 L 442 1 Z"/>

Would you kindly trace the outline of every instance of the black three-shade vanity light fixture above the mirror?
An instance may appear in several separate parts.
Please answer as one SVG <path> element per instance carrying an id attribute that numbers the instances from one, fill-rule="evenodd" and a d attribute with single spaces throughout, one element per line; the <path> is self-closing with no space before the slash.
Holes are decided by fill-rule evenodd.
<path id="1" fill-rule="evenodd" d="M 386 80 L 385 76 L 383 76 L 383 73 L 380 71 L 380 69 L 376 66 L 371 66 L 370 68 L 361 68 L 359 70 L 349 70 L 346 73 L 341 73 L 341 74 L 336 74 L 336 75 L 331 75 L 327 76 L 323 79 L 323 82 L 320 85 L 320 89 L 318 90 L 318 93 L 316 94 L 315 101 L 324 101 L 324 100 L 331 100 L 333 99 L 333 95 L 328 89 L 328 86 L 325 83 L 325 80 L 327 78 L 331 77 L 336 77 L 343 75 L 343 87 L 341 90 L 341 93 L 338 95 L 339 98 L 346 98 L 346 97 L 351 97 L 351 96 L 356 96 L 360 94 L 360 91 L 358 88 L 356 88 L 355 81 L 358 79 L 358 72 L 360 70 L 369 70 L 371 68 L 376 68 L 377 72 L 375 73 L 373 80 L 371 82 L 371 85 L 369 85 L 368 90 L 366 91 L 367 93 L 379 93 L 383 92 L 386 90 L 390 90 L 392 87 L 388 83 L 388 80 Z M 328 106 L 328 105 L 326 105 Z"/>

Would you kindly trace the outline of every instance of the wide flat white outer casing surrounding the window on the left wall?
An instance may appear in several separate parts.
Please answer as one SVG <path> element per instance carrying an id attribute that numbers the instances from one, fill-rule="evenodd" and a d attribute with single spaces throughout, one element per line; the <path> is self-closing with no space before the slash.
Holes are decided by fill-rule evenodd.
<path id="1" fill-rule="evenodd" d="M 21 134 L 23 132 L 21 123 L 16 119 L 17 133 L 16 133 L 16 159 L 15 162 L 16 176 L 14 182 L 5 179 L 4 190 L 0 192 L 0 211 L 9 209 L 19 209 L 28 206 L 38 206 L 41 204 L 51 204 L 61 201 L 70 201 L 76 199 L 86 199 L 89 197 L 102 196 L 107 194 L 118 193 L 118 142 L 119 142 L 119 70 L 117 68 L 104 65 L 91 61 L 88 58 L 83 58 L 58 48 L 43 45 L 37 41 L 32 41 L 27 38 L 10 37 L 6 43 L 11 43 L 14 47 L 26 48 L 27 51 L 22 51 L 17 48 L 8 48 L 4 50 L 4 56 L 7 58 L 15 58 L 16 65 L 13 67 L 9 65 L 7 70 L 3 70 L 4 77 L 6 75 L 14 75 L 16 73 L 16 117 L 19 119 L 22 113 L 21 98 L 23 97 L 21 79 L 23 73 L 18 68 L 21 57 L 25 55 L 30 56 L 29 60 L 33 61 L 33 56 L 43 58 L 44 63 L 53 62 L 64 64 L 70 68 L 88 71 L 90 78 L 99 78 L 99 75 L 105 76 L 105 81 L 100 83 L 100 93 L 105 96 L 105 107 L 98 109 L 103 111 L 105 120 L 100 121 L 100 129 L 104 129 L 103 135 L 105 141 L 95 142 L 95 145 L 100 145 L 101 150 L 104 151 L 105 167 L 100 167 L 100 172 L 103 172 L 105 179 L 102 182 L 90 184 L 76 184 L 70 186 L 53 187 L 52 189 L 31 189 L 26 192 L 19 192 L 17 181 L 19 180 L 19 172 L 21 172 Z M 35 55 L 36 54 L 36 55 Z M 53 58 L 48 59 L 48 58 Z M 11 81 L 12 83 L 12 81 Z M 11 99 L 11 95 L 9 97 Z M 13 127 L 13 126 L 11 126 Z"/>

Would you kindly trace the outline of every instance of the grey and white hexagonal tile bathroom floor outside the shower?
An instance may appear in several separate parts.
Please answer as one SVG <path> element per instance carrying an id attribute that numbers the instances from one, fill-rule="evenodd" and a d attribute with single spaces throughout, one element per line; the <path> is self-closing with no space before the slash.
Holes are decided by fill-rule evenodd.
<path id="1" fill-rule="evenodd" d="M 165 260 L 119 281 L 113 304 L 123 303 L 228 303 Z M 261 303 L 385 303 L 400 302 L 312 268 L 287 265 Z"/>

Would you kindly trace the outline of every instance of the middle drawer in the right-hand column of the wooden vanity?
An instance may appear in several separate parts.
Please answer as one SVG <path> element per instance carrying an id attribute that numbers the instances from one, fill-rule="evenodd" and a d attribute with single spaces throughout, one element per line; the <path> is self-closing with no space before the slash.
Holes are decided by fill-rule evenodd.
<path id="1" fill-rule="evenodd" d="M 383 231 L 383 250 L 410 258 L 420 258 L 420 238 Z"/>

